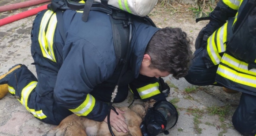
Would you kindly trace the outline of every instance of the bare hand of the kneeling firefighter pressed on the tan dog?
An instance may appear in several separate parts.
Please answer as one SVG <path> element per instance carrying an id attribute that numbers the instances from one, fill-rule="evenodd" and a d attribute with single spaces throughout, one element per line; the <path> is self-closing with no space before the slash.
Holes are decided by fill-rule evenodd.
<path id="1" fill-rule="evenodd" d="M 121 111 L 118 108 L 115 108 L 116 112 L 114 110 L 110 111 L 110 125 L 116 129 L 116 131 L 121 132 L 123 131 L 124 133 L 127 133 L 128 127 L 127 124 L 125 124 L 125 118 L 121 113 L 124 113 L 124 111 Z M 104 119 L 106 123 L 108 123 L 108 116 Z"/>

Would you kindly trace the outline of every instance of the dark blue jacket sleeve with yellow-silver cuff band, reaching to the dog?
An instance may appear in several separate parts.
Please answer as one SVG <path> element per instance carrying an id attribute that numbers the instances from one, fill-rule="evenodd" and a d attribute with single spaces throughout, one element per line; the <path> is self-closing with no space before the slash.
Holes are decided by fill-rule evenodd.
<path id="1" fill-rule="evenodd" d="M 84 39 L 66 44 L 63 54 L 63 65 L 54 89 L 57 104 L 78 116 L 103 121 L 108 104 L 95 100 L 89 93 L 112 75 L 112 65 L 106 64 L 97 48 Z"/>

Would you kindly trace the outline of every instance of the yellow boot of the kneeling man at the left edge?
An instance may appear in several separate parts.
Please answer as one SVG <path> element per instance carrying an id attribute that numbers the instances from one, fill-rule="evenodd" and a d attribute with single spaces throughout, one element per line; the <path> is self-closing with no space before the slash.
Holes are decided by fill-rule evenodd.
<path id="1" fill-rule="evenodd" d="M 0 99 L 2 99 L 8 92 L 8 81 L 11 78 L 12 73 L 19 69 L 22 65 L 17 64 L 9 69 L 9 71 L 0 76 Z"/>

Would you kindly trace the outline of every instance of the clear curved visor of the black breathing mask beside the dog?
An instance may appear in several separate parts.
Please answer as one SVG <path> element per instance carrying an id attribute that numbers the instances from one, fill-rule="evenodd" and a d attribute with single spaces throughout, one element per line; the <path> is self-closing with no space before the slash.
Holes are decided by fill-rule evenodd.
<path id="1" fill-rule="evenodd" d="M 177 109 L 168 101 L 158 101 L 154 104 L 154 110 L 162 114 L 165 118 L 165 130 L 172 128 L 178 120 Z"/>

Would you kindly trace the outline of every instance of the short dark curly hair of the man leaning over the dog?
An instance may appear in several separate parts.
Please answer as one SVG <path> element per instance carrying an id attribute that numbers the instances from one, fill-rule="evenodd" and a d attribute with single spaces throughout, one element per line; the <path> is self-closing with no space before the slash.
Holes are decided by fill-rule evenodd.
<path id="1" fill-rule="evenodd" d="M 150 68 L 168 71 L 174 78 L 187 75 L 192 59 L 190 39 L 181 28 L 162 28 L 158 30 L 146 48 L 150 55 Z"/>

